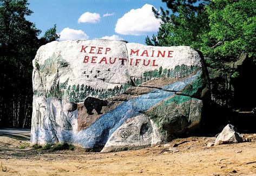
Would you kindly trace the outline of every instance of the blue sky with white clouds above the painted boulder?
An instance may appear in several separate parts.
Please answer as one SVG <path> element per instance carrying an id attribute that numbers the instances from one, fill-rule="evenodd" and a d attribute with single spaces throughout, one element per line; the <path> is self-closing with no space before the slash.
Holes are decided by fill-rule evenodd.
<path id="1" fill-rule="evenodd" d="M 57 25 L 60 40 L 121 39 L 145 44 L 160 21 L 151 10 L 166 7 L 161 0 L 28 0 L 34 11 L 28 20 L 42 30 Z"/>

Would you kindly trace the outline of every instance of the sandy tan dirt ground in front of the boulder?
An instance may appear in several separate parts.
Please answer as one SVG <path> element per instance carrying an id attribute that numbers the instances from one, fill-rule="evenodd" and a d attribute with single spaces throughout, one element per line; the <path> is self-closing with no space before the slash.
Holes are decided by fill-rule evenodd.
<path id="1" fill-rule="evenodd" d="M 256 134 L 244 136 L 252 142 L 208 148 L 214 137 L 189 137 L 114 153 L 34 150 L 29 137 L 0 136 L 0 175 L 256 175 Z"/>

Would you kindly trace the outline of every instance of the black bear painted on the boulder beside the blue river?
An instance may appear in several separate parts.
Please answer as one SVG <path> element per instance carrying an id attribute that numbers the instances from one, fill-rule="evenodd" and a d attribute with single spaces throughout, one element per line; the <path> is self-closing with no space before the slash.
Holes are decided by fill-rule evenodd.
<path id="1" fill-rule="evenodd" d="M 96 110 L 97 114 L 102 114 L 102 107 L 107 105 L 107 100 L 101 100 L 99 98 L 87 97 L 86 100 L 84 100 L 84 107 L 86 107 L 87 113 L 89 115 L 93 115 L 93 109 Z"/>

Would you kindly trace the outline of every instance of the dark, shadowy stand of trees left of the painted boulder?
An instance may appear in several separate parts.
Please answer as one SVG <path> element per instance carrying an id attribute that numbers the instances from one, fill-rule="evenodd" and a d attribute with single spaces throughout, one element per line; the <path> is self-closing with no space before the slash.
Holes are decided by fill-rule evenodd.
<path id="1" fill-rule="evenodd" d="M 0 126 L 24 127 L 31 121 L 32 59 L 41 31 L 25 18 L 32 13 L 27 6 L 27 0 L 0 0 Z"/>

